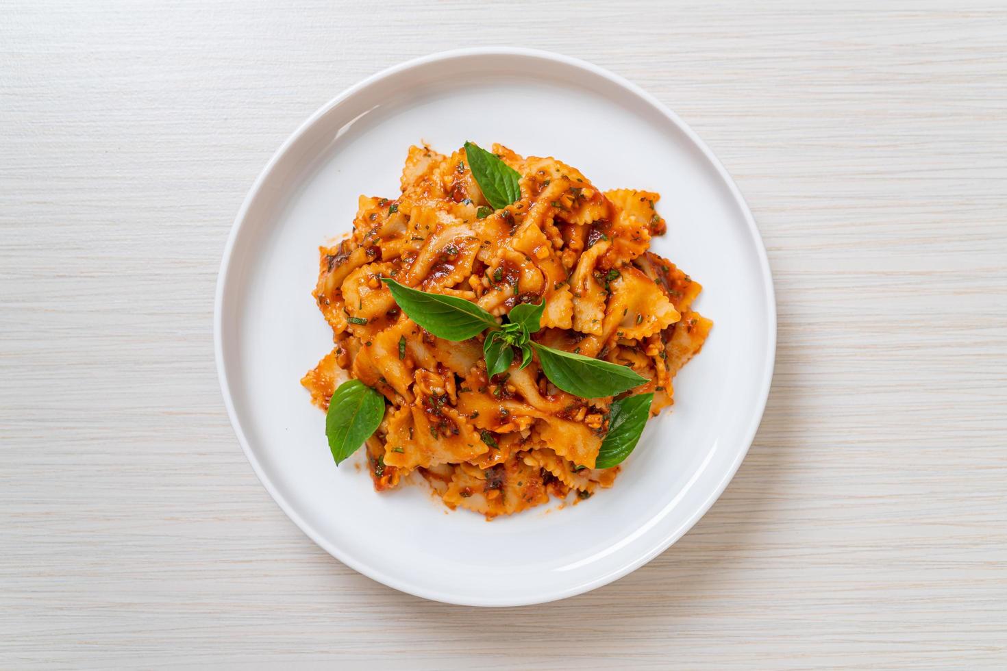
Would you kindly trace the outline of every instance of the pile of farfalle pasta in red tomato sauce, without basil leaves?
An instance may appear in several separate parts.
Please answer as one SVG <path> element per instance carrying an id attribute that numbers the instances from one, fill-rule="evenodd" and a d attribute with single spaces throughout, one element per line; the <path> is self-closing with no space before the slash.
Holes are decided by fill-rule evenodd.
<path id="1" fill-rule="evenodd" d="M 545 299 L 533 339 L 630 366 L 650 380 L 629 393 L 655 393 L 652 416 L 712 325 L 691 310 L 700 285 L 649 250 L 666 229 L 657 193 L 601 192 L 556 159 L 492 152 L 521 174 L 506 208 L 486 207 L 464 149 L 411 147 L 398 198 L 361 196 L 352 234 L 320 249 L 313 296 L 334 348 L 301 380 L 322 408 L 347 371 L 385 396 L 366 443 L 377 490 L 416 473 L 449 507 L 486 518 L 610 487 L 619 467 L 594 467 L 612 397 L 556 388 L 538 358 L 487 378 L 483 336 L 431 335 L 380 278 L 499 316 Z"/>

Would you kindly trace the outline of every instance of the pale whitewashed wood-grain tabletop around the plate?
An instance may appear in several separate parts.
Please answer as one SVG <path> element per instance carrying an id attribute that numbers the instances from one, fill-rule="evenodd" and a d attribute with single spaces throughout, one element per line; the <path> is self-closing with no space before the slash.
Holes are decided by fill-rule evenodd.
<path id="1" fill-rule="evenodd" d="M 755 4 L 5 4 L 0 667 L 1007 666 L 1007 8 Z M 613 584 L 495 611 L 297 530 L 229 426 L 210 321 L 283 139 L 485 43 L 676 110 L 779 308 L 765 418 L 703 520 Z"/>

